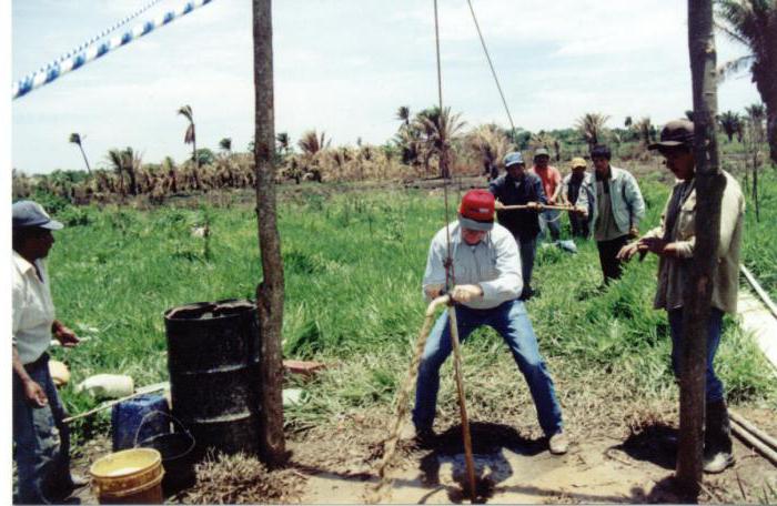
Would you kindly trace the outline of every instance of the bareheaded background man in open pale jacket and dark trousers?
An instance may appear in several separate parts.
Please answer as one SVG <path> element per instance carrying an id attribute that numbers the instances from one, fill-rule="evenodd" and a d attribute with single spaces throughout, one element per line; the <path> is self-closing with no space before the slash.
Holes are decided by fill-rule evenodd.
<path id="1" fill-rule="evenodd" d="M 597 144 L 591 150 L 596 169 L 592 226 L 605 284 L 620 277 L 618 251 L 629 237 L 639 235 L 639 220 L 645 215 L 645 201 L 637 181 L 625 170 L 612 166 L 610 156 L 606 145 Z M 588 196 L 581 193 L 577 205 L 588 208 Z"/>

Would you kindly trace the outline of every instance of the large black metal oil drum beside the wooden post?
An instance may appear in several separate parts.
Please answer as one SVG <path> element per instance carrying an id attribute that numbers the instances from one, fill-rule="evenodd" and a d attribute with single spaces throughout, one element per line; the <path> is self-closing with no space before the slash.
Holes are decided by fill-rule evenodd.
<path id="1" fill-rule="evenodd" d="M 258 453 L 259 322 L 250 301 L 201 302 L 164 313 L 173 416 L 208 449 Z"/>

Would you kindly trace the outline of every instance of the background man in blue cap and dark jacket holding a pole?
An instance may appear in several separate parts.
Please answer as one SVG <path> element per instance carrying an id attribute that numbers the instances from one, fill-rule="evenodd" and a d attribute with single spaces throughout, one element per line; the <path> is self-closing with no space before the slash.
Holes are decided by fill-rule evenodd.
<path id="1" fill-rule="evenodd" d="M 537 174 L 526 171 L 526 163 L 519 151 L 507 153 L 504 165 L 507 173 L 492 181 L 488 191 L 496 199 L 496 216 L 500 224 L 513 234 L 518 244 L 524 280 L 519 298 L 525 301 L 536 293 L 532 290 L 532 271 L 539 234 L 539 212 L 547 200 L 542 180 Z M 505 205 L 526 205 L 527 209 L 502 211 Z"/>

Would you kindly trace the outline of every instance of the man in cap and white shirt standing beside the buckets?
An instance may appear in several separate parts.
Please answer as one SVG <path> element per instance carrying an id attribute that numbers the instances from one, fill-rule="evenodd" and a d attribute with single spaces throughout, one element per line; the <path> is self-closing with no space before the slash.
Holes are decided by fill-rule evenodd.
<path id="1" fill-rule="evenodd" d="M 75 346 L 75 334 L 54 318 L 43 264 L 62 223 L 32 201 L 13 204 L 13 443 L 19 476 L 14 503 L 64 500 L 82 478 L 70 474 L 70 433 L 49 373 L 47 350 L 53 336 Z"/>

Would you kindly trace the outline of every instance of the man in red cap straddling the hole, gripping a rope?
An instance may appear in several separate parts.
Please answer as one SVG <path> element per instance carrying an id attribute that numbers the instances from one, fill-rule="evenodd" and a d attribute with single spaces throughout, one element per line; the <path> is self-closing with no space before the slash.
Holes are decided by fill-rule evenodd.
<path id="1" fill-rule="evenodd" d="M 445 265 L 451 266 L 448 273 Z M 518 247 L 513 234 L 494 223 L 494 195 L 486 190 L 465 193 L 458 221 L 440 230 L 432 240 L 423 280 L 426 297 L 440 296 L 446 280 L 456 303 L 460 340 L 463 342 L 483 325 L 502 335 L 526 378 L 551 452 L 566 453 L 568 441 L 553 380 L 539 354 L 526 307 L 518 300 L 523 285 Z M 451 346 L 446 310 L 430 333 L 418 366 L 413 424 L 422 444 L 434 439 L 440 367 L 451 354 Z"/>

